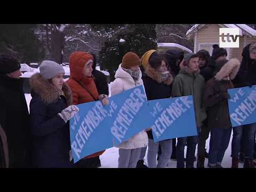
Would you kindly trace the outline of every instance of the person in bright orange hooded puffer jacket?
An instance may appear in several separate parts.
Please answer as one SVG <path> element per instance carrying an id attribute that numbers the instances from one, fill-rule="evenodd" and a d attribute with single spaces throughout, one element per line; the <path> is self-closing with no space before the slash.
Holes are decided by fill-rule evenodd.
<path id="1" fill-rule="evenodd" d="M 103 105 L 108 105 L 108 95 L 99 95 L 92 75 L 93 56 L 84 51 L 76 51 L 69 56 L 70 77 L 67 84 L 73 94 L 73 104 L 101 100 Z M 104 153 L 99 151 L 89 155 L 75 164 L 78 168 L 96 168 L 94 157 Z"/>

